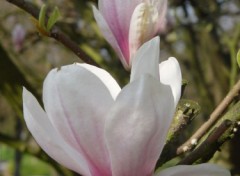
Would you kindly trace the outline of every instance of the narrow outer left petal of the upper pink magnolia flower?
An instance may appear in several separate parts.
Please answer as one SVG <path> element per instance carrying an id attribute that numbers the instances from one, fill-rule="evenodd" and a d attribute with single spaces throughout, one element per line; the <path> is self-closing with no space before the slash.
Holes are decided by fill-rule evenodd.
<path id="1" fill-rule="evenodd" d="M 103 18 L 102 14 L 96 9 L 96 7 L 93 8 L 93 14 L 96 19 L 96 22 L 103 33 L 105 39 L 108 41 L 108 43 L 112 46 L 112 48 L 117 53 L 118 57 L 120 58 L 123 66 L 126 69 L 129 69 L 129 51 L 128 47 L 120 48 L 121 46 L 118 43 L 118 40 L 113 34 L 113 31 L 109 28 L 107 22 Z"/>

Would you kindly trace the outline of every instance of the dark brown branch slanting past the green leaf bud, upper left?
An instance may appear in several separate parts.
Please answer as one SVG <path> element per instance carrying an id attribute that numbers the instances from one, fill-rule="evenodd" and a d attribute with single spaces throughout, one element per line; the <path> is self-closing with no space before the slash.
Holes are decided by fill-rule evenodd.
<path id="1" fill-rule="evenodd" d="M 38 19 L 40 10 L 25 0 L 6 0 L 7 2 L 16 5 L 22 10 L 26 11 L 34 18 Z M 66 34 L 64 34 L 56 26 L 50 31 L 49 37 L 54 38 L 58 42 L 62 43 L 65 47 L 70 49 L 74 54 L 76 54 L 82 61 L 100 67 L 89 55 L 87 55 L 74 41 L 72 41 Z"/>

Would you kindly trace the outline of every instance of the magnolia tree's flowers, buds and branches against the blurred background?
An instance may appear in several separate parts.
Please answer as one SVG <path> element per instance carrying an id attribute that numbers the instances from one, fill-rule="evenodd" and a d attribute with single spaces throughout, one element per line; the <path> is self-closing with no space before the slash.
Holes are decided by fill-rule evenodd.
<path id="1" fill-rule="evenodd" d="M 48 13 L 45 5 L 39 11 L 23 0 L 9 2 L 35 17 L 41 35 L 55 38 L 85 62 L 63 65 L 47 74 L 43 107 L 31 93 L 34 90 L 23 87 L 27 128 L 53 160 L 83 176 L 231 175 L 207 161 L 239 126 L 235 101 L 239 82 L 192 137 L 183 144 L 176 142 L 196 116 L 198 105 L 181 100 L 185 83 L 178 60 L 160 57 L 159 34 L 167 28 L 167 0 L 99 0 L 98 7 L 92 5 L 100 31 L 122 62 L 121 69 L 130 73 L 122 88 L 55 26 L 58 8 Z M 20 50 L 25 32 L 17 26 L 13 36 Z"/>

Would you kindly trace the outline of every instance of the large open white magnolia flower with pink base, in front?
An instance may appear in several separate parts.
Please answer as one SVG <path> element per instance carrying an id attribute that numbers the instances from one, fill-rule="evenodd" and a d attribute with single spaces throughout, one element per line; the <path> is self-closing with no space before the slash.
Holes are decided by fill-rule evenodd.
<path id="1" fill-rule="evenodd" d="M 180 98 L 181 70 L 175 58 L 158 65 L 158 37 L 136 57 L 122 90 L 109 73 L 88 64 L 48 74 L 45 110 L 24 89 L 24 118 L 38 144 L 84 176 L 230 176 L 210 164 L 153 173 Z"/>

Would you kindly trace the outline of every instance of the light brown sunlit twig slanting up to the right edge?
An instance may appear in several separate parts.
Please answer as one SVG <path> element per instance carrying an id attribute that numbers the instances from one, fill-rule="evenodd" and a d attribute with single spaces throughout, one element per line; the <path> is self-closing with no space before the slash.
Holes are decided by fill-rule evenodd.
<path id="1" fill-rule="evenodd" d="M 240 80 L 234 85 L 232 90 L 227 94 L 227 96 L 222 100 L 222 102 L 217 106 L 217 108 L 212 112 L 207 122 L 205 122 L 184 144 L 182 144 L 177 149 L 177 154 L 182 154 L 183 152 L 191 150 L 197 141 L 206 134 L 212 125 L 223 115 L 228 106 L 234 101 L 234 99 L 239 95 L 240 92 Z M 194 141 L 194 142 L 193 142 Z"/>

